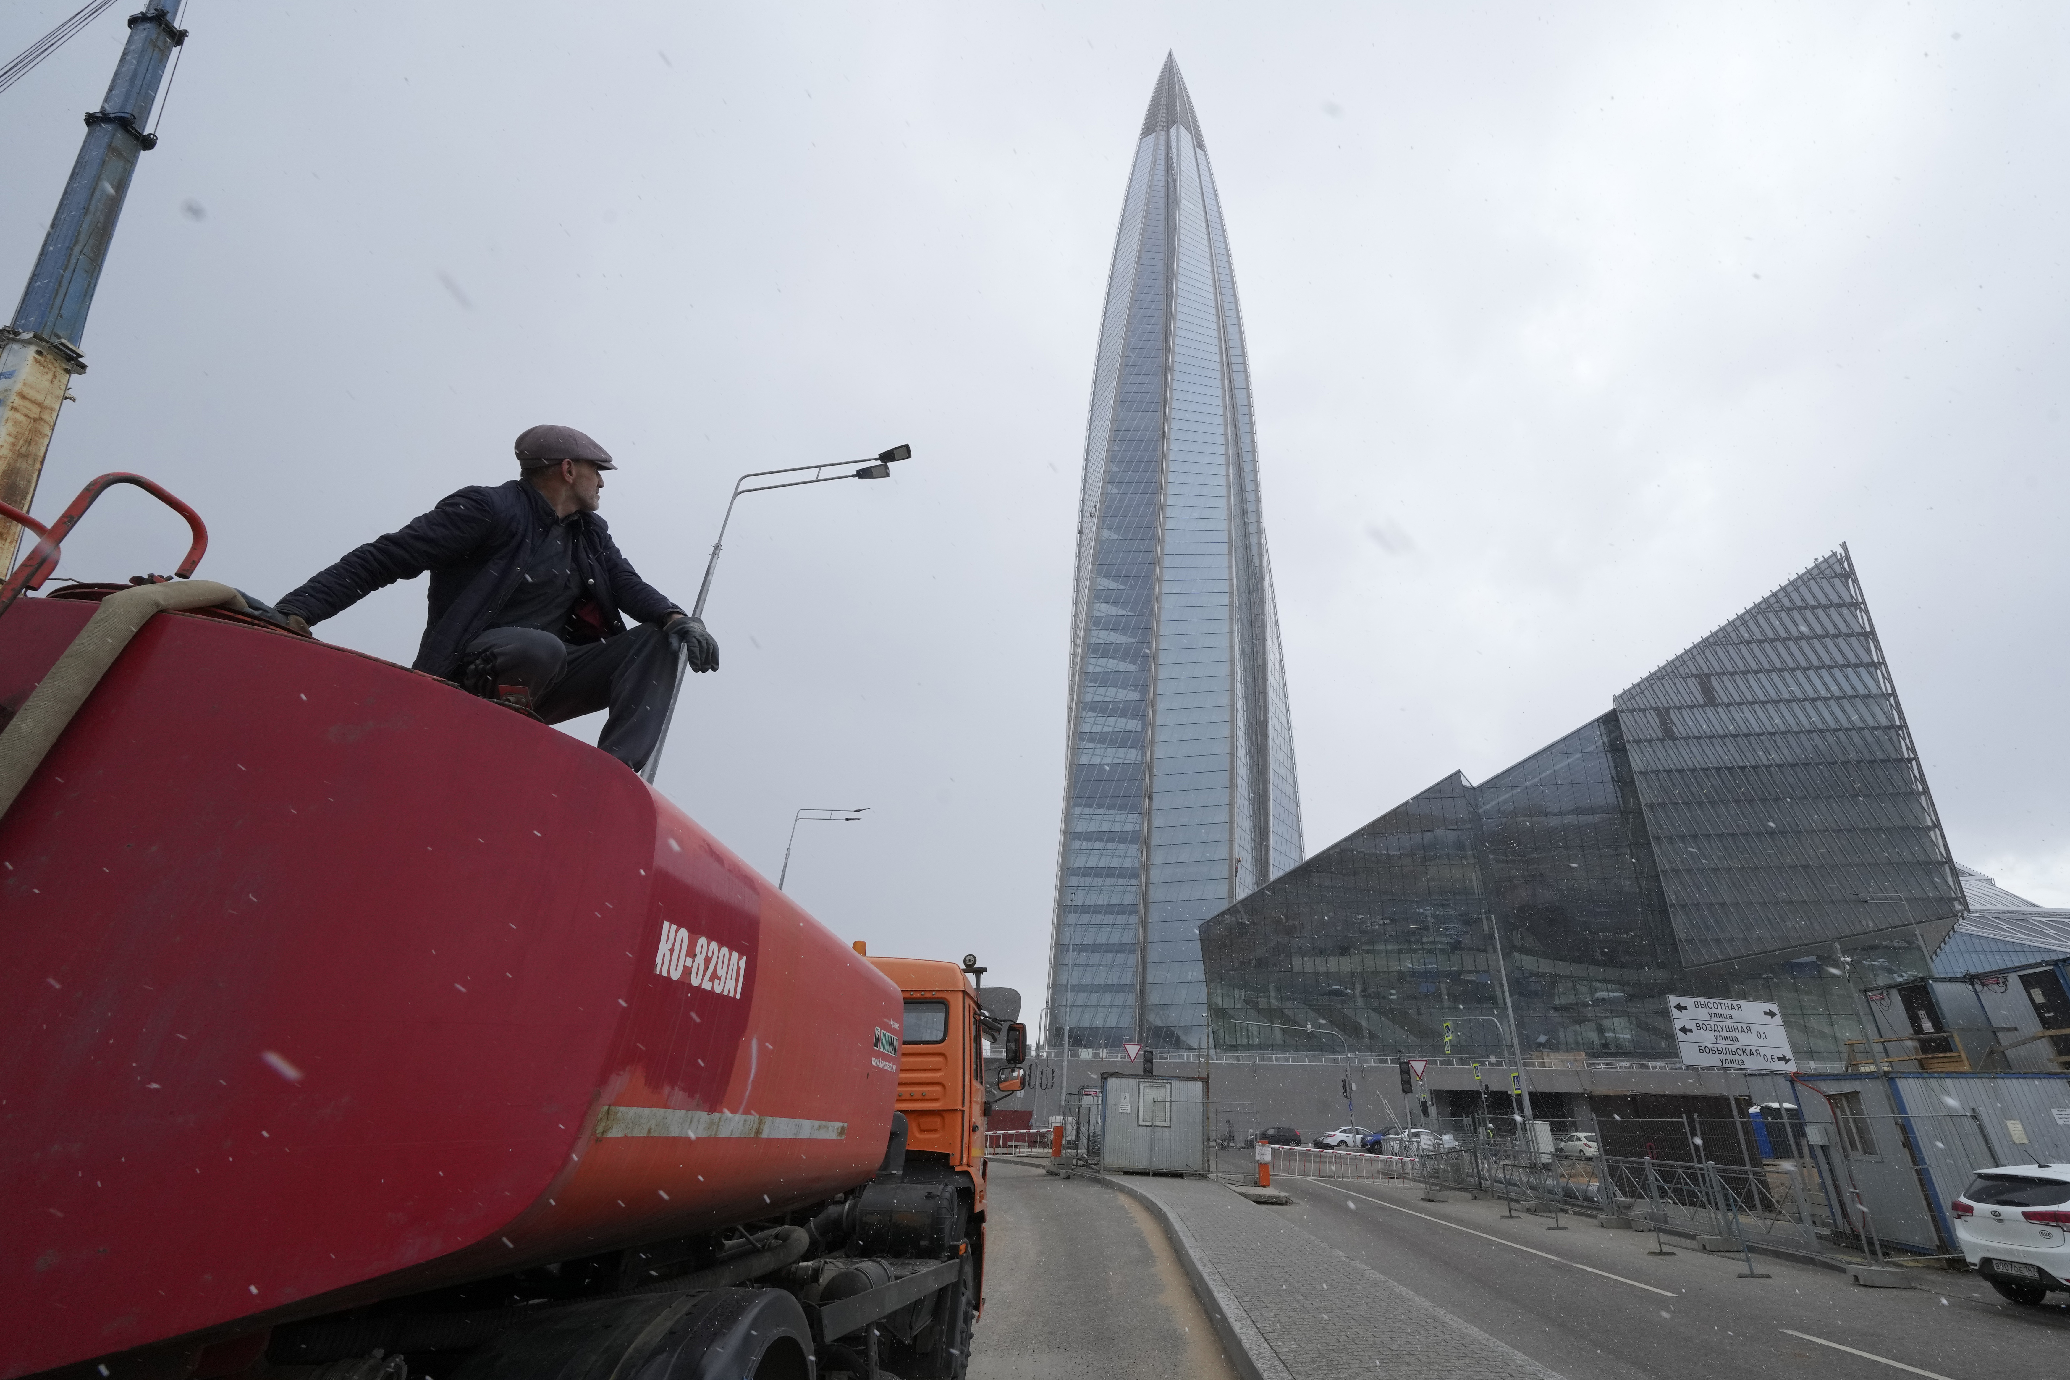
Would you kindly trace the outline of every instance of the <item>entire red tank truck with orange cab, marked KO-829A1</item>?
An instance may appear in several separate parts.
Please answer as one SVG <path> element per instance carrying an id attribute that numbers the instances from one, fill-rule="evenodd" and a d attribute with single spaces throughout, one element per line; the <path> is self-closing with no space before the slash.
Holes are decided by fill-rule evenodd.
<path id="1" fill-rule="evenodd" d="M 21 598 L 54 548 L 0 590 L 0 1378 L 963 1374 L 954 964 L 226 586 Z"/>

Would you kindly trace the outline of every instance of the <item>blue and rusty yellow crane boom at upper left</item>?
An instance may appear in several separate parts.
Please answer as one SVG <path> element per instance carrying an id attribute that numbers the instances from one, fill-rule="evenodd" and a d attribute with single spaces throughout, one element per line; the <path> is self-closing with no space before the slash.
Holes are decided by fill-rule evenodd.
<path id="1" fill-rule="evenodd" d="M 157 145 L 157 134 L 147 132 L 151 106 L 166 62 L 186 41 L 186 29 L 174 27 L 178 4 L 149 0 L 141 14 L 130 14 L 128 43 L 101 108 L 87 116 L 87 139 L 50 217 L 43 252 L 14 319 L 0 327 L 0 501 L 23 511 L 35 499 L 72 374 L 87 372 L 79 341 L 137 155 Z M 0 517 L 0 571 L 14 565 L 17 542 L 21 526 Z"/>

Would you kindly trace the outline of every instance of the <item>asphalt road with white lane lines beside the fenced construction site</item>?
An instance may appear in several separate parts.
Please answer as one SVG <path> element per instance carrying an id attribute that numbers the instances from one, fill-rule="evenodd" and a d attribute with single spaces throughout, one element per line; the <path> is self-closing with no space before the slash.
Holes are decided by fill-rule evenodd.
<path id="1" fill-rule="evenodd" d="M 1737 1279 L 1739 1256 L 1673 1239 L 1675 1256 L 1648 1256 L 1654 1237 L 1592 1219 L 1548 1231 L 1492 1202 L 1420 1202 L 1399 1183 L 1279 1177 L 1273 1188 L 1296 1200 L 1273 1210 L 1317 1250 L 1372 1266 L 1569 1380 L 2070 1374 L 2070 1308 L 2053 1303 L 2064 1295 L 2018 1308 L 1975 1274 L 1940 1270 L 1921 1272 L 1921 1289 L 1861 1289 L 1764 1256 L 1753 1268 L 1772 1279 Z"/>

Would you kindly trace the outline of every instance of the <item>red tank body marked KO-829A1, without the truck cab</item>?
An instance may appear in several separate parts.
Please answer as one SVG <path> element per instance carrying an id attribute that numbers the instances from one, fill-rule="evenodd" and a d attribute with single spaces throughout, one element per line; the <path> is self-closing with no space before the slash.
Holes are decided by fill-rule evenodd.
<path id="1" fill-rule="evenodd" d="M 0 708 L 114 590 L 0 617 Z M 0 865 L 4 1378 L 778 1219 L 886 1157 L 890 979 L 615 759 L 377 658 L 151 617 Z"/>

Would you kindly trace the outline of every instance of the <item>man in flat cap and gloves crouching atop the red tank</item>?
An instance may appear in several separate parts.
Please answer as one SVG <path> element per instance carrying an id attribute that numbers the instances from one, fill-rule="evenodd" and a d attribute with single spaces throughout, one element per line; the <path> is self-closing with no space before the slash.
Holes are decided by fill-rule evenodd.
<path id="1" fill-rule="evenodd" d="M 298 631 L 431 571 L 416 670 L 549 724 L 611 710 L 596 745 L 640 770 L 675 695 L 677 652 L 718 670 L 718 643 L 640 579 L 596 515 L 611 453 L 573 426 L 518 437 L 520 478 L 470 486 L 346 552 L 277 604 Z M 640 627 L 627 631 L 623 614 Z"/>

